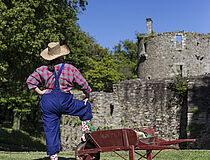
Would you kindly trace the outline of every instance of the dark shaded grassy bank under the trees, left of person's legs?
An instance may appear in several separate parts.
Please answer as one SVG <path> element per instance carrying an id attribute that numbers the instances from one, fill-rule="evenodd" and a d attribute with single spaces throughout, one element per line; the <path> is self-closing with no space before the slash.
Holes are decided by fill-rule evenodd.
<path id="1" fill-rule="evenodd" d="M 0 128 L 0 151 L 46 151 L 46 146 L 37 138 L 22 130 Z"/>

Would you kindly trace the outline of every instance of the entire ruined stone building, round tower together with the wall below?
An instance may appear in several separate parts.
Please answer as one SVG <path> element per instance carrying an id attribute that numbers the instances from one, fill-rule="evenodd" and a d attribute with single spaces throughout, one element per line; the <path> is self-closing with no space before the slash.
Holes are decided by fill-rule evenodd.
<path id="1" fill-rule="evenodd" d="M 91 93 L 94 127 L 150 126 L 165 140 L 197 140 L 185 148 L 210 149 L 210 34 L 154 33 L 147 19 L 147 34 L 138 42 L 139 78 L 114 84 L 112 93 Z M 172 87 L 178 74 L 190 77 L 184 96 Z M 81 121 L 63 116 L 62 149 L 73 149 L 80 137 Z"/>

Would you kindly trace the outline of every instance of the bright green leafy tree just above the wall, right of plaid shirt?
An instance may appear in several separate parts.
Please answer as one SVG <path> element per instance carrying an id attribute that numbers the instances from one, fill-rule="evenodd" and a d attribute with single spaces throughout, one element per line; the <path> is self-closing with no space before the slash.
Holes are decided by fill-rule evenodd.
<path id="1" fill-rule="evenodd" d="M 95 59 L 88 58 L 90 69 L 85 73 L 85 77 L 94 91 L 110 92 L 113 89 L 112 85 L 123 80 L 124 75 L 117 72 L 115 60 L 107 49 L 98 46 L 96 51 L 101 54 Z"/>

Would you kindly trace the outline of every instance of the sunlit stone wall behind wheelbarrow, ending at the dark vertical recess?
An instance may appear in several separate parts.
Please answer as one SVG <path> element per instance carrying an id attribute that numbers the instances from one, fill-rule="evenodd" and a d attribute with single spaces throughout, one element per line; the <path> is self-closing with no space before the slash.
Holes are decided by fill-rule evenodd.
<path id="1" fill-rule="evenodd" d="M 185 100 L 170 89 L 173 80 L 135 79 L 113 86 L 113 93 L 93 92 L 90 97 L 95 128 L 153 127 L 155 133 L 166 140 L 183 138 L 187 122 Z M 82 93 L 75 93 L 82 99 Z M 184 129 L 183 129 L 184 128 Z M 77 117 L 63 116 L 61 146 L 74 149 L 80 142 L 81 122 Z M 184 137 L 186 138 L 186 137 Z"/>

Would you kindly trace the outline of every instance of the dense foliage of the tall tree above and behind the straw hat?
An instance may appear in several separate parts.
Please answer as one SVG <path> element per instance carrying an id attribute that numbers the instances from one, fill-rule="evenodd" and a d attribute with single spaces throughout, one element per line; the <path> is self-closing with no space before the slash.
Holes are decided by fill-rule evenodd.
<path id="1" fill-rule="evenodd" d="M 8 63 L 8 77 L 25 80 L 31 69 L 42 62 L 40 51 L 51 41 L 67 44 L 72 52 L 78 48 L 84 33 L 77 14 L 85 9 L 86 0 L 11 0 L 1 1 L 0 51 Z M 7 53 L 7 54 L 5 54 Z M 20 72 L 24 70 L 25 72 Z"/>

